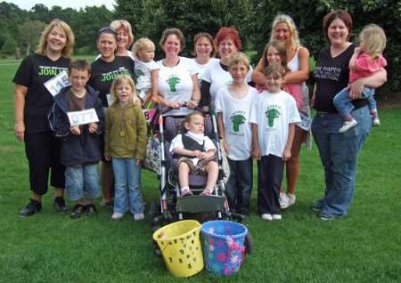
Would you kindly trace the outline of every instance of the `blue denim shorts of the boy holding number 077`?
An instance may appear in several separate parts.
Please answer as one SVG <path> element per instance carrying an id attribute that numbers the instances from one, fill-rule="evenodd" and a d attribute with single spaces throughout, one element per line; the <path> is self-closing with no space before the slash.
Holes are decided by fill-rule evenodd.
<path id="1" fill-rule="evenodd" d="M 100 176 L 97 164 L 69 166 L 65 169 L 65 190 L 71 200 L 99 198 Z"/>

